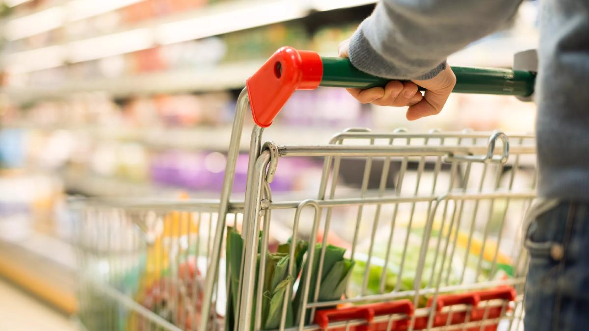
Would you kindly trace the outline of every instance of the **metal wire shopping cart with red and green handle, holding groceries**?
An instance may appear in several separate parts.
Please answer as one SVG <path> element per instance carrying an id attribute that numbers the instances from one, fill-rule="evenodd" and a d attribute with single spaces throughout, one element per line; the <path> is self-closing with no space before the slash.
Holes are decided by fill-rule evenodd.
<path id="1" fill-rule="evenodd" d="M 528 96 L 534 74 L 454 68 L 456 92 Z M 94 200 L 79 211 L 88 330 L 518 330 L 535 140 L 349 128 L 262 143 L 294 90 L 386 80 L 281 48 L 237 99 L 220 200 Z M 244 199 L 230 201 L 246 111 Z M 319 160 L 318 193 L 272 196 L 284 157 Z M 358 167 L 357 165 L 360 164 Z M 355 181 L 343 173 L 358 174 Z M 353 177 L 353 176 L 352 176 Z"/>

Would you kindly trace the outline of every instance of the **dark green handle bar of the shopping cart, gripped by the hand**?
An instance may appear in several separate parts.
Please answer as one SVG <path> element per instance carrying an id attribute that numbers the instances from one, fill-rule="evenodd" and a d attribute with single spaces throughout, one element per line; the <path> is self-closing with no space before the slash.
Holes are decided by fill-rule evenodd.
<path id="1" fill-rule="evenodd" d="M 356 69 L 347 58 L 322 57 L 323 78 L 319 86 L 370 88 L 385 86 L 391 81 Z M 527 97 L 534 92 L 535 74 L 530 71 L 452 67 L 456 85 L 452 92 L 502 94 Z M 420 87 L 420 90 L 424 90 Z"/>

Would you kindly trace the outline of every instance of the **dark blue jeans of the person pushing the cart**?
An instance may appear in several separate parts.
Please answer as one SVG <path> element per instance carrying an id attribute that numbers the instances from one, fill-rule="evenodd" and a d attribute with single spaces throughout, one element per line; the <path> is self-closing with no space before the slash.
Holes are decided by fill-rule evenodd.
<path id="1" fill-rule="evenodd" d="M 589 203 L 561 202 L 526 231 L 525 331 L 589 330 Z"/>

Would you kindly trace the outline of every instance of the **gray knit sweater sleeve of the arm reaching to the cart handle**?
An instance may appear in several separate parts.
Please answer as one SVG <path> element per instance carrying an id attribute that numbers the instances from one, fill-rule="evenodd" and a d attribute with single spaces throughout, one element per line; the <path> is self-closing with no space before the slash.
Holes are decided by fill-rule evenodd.
<path id="1" fill-rule="evenodd" d="M 495 31 L 521 0 L 380 0 L 350 40 L 352 64 L 385 78 L 428 79 L 446 57 Z"/>

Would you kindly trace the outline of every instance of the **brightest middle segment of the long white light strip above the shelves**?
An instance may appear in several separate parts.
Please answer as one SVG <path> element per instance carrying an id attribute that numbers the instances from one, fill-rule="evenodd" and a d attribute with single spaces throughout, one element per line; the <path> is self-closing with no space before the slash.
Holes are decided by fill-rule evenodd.
<path id="1" fill-rule="evenodd" d="M 155 39 L 160 44 L 173 44 L 288 21 L 305 14 L 306 11 L 296 1 L 261 2 L 240 9 L 162 24 L 155 29 Z"/>

